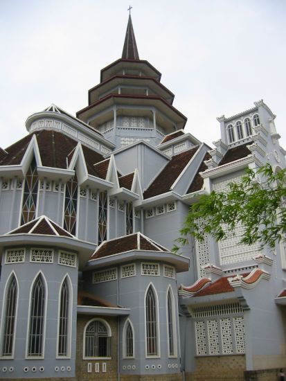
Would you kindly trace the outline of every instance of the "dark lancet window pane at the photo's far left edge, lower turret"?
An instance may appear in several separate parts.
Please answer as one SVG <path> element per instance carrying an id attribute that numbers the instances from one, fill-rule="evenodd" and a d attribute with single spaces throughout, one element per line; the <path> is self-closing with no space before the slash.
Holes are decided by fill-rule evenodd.
<path id="1" fill-rule="evenodd" d="M 15 326 L 16 326 L 16 308 L 17 308 L 18 287 L 15 275 L 12 274 L 8 280 L 8 288 L 6 292 L 5 314 L 3 315 L 3 346 L 2 355 L 12 356 Z"/>

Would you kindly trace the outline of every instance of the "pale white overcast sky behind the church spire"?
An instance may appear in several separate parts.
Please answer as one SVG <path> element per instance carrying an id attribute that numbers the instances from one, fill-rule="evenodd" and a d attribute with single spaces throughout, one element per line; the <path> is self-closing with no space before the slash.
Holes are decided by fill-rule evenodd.
<path id="1" fill-rule="evenodd" d="M 185 131 L 209 145 L 217 116 L 263 98 L 286 148 L 285 0 L 132 0 L 139 56 L 162 73 Z M 121 57 L 129 0 L 0 0 L 2 148 L 51 103 L 75 115 Z"/>

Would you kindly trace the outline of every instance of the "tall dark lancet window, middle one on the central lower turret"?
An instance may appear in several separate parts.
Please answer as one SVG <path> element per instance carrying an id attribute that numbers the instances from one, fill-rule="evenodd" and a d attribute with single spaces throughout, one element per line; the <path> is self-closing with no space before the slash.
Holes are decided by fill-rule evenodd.
<path id="1" fill-rule="evenodd" d="M 154 290 L 152 286 L 148 288 L 145 296 L 145 314 L 146 314 L 146 353 L 148 356 L 157 356 L 158 351 L 158 333 L 157 333 L 157 305 Z"/>

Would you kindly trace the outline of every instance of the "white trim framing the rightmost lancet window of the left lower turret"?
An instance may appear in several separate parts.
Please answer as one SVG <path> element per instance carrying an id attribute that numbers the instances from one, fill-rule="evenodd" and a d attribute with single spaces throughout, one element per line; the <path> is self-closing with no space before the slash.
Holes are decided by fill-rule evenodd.
<path id="1" fill-rule="evenodd" d="M 69 321 L 68 321 L 68 337 L 67 337 L 67 349 L 66 356 L 58 355 L 59 352 L 59 334 L 60 334 L 60 296 L 62 293 L 62 285 L 64 281 L 67 279 L 68 288 L 69 288 Z M 71 283 L 71 278 L 68 273 L 65 274 L 64 278 L 62 278 L 62 282 L 60 283 L 58 298 L 57 298 L 57 347 L 56 347 L 56 359 L 70 359 L 71 358 L 71 335 L 72 335 L 72 325 L 73 325 L 73 286 Z"/>

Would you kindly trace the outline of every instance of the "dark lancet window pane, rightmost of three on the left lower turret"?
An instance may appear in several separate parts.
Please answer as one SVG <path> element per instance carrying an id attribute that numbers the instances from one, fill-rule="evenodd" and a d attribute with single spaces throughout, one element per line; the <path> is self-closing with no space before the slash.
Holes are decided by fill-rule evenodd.
<path id="1" fill-rule="evenodd" d="M 70 296 L 69 296 L 69 283 L 67 277 L 62 283 L 60 290 L 60 315 L 59 315 L 59 330 L 58 330 L 58 346 L 57 346 L 57 355 L 58 356 L 67 356 L 68 355 L 68 346 L 69 346 L 69 305 L 70 305 Z"/>

